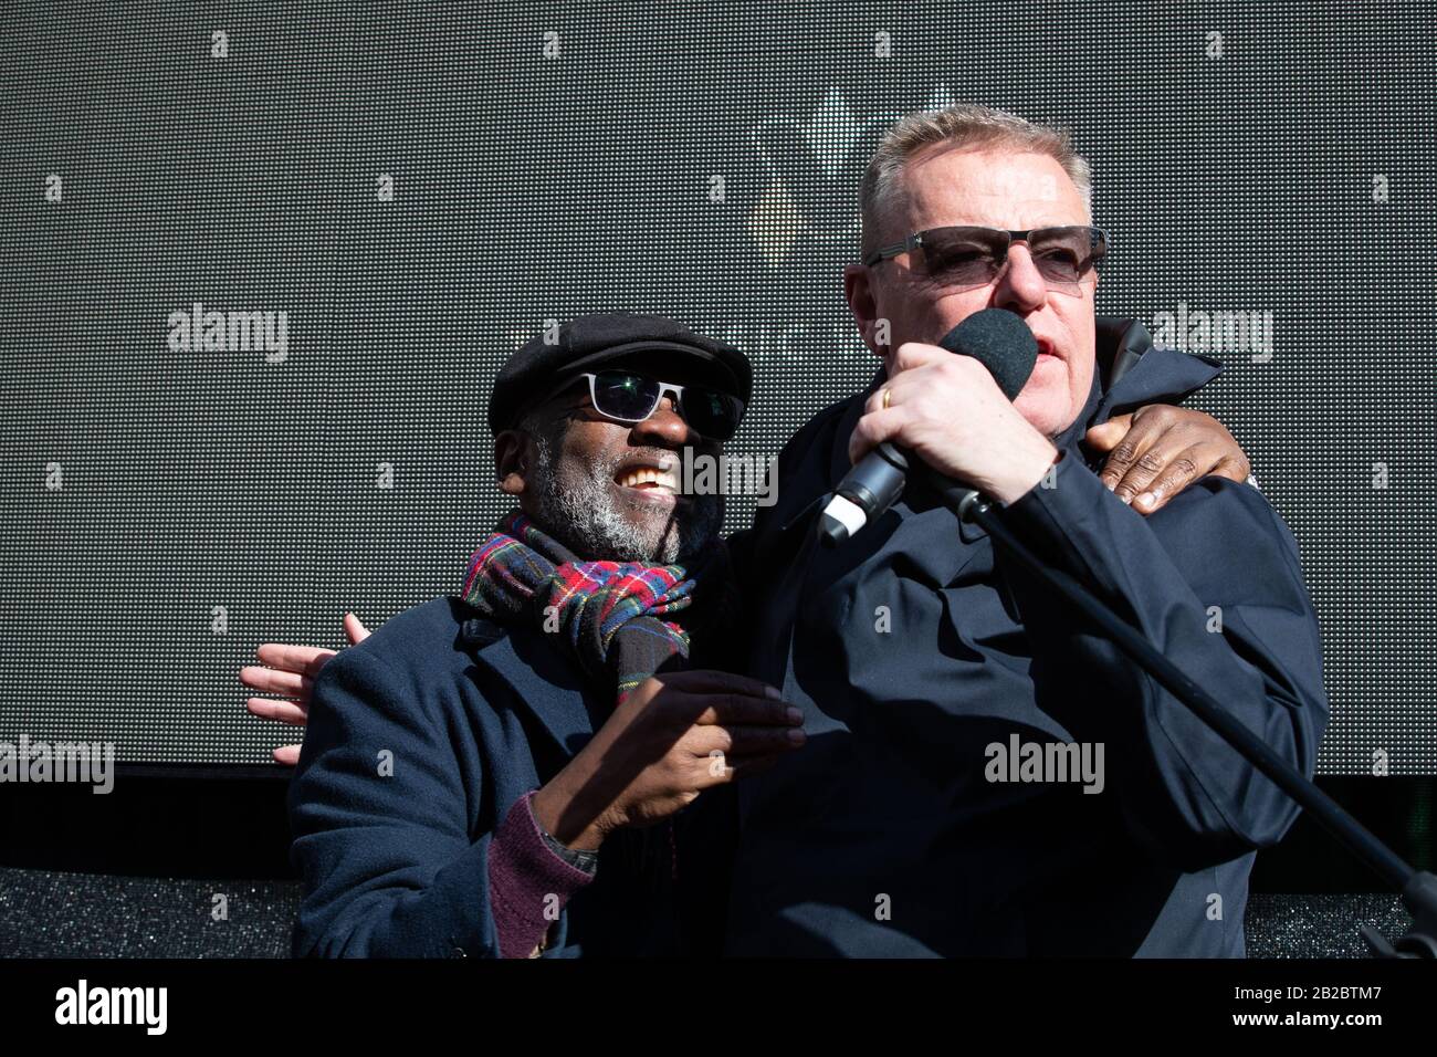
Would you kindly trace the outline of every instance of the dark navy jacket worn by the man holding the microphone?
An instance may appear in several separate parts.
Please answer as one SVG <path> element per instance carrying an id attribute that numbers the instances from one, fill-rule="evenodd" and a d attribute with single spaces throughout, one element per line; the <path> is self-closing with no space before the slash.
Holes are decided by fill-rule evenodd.
<path id="1" fill-rule="evenodd" d="M 1217 477 L 1142 516 L 1079 444 L 1219 371 L 1155 348 L 1106 394 L 1095 377 L 1056 488 L 1002 518 L 1311 775 L 1328 705 L 1289 529 Z M 736 541 L 750 673 L 809 742 L 736 787 L 729 952 L 1242 956 L 1255 850 L 1298 814 L 1275 785 L 924 489 L 836 551 L 806 542 L 868 393 L 789 441 L 777 503 Z M 1102 742 L 1104 791 L 989 781 L 1013 735 Z"/>

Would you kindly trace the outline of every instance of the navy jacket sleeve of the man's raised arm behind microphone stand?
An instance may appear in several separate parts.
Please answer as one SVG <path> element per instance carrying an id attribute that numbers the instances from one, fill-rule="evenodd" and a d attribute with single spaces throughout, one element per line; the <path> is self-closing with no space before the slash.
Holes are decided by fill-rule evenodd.
<path id="1" fill-rule="evenodd" d="M 1288 526 L 1253 488 L 1196 482 L 1144 518 L 1072 452 L 1053 488 L 999 516 L 1073 575 L 1279 756 L 1312 777 L 1326 725 L 1322 647 Z M 1134 836 L 1184 870 L 1275 844 L 1298 805 L 1063 600 L 1002 554 L 1040 703 L 1105 742 Z"/>

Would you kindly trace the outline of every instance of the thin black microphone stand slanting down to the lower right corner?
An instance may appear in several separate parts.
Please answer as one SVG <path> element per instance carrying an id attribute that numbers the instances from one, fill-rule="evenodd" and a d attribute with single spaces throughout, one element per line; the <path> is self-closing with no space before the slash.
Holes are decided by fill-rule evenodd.
<path id="1" fill-rule="evenodd" d="M 1308 781 L 1273 752 L 1266 742 L 1227 713 L 1203 687 L 1160 653 L 1137 628 L 1118 617 L 1078 580 L 1042 562 L 993 513 L 992 503 L 973 489 L 950 483 L 941 489 L 944 505 L 960 521 L 980 525 L 1002 544 L 1019 564 L 1068 598 L 1094 620 L 1128 657 L 1187 705 L 1194 715 L 1237 749 L 1249 762 L 1292 797 L 1336 841 L 1367 863 L 1391 887 L 1403 894 L 1413 915 L 1413 928 L 1397 943 L 1368 925 L 1361 926 L 1368 948 L 1380 958 L 1437 958 L 1437 876 L 1414 870 L 1401 856 L 1377 838 L 1371 830 L 1349 815 L 1335 800 Z"/>

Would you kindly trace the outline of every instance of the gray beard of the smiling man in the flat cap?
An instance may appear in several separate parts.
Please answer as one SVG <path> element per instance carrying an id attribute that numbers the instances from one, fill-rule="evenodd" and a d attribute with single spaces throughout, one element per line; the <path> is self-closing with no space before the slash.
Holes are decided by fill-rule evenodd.
<path id="1" fill-rule="evenodd" d="M 547 430 L 533 430 L 530 436 L 537 453 L 532 473 L 536 521 L 581 558 L 673 565 L 701 551 L 723 528 L 721 495 L 693 496 L 690 503 L 667 512 L 635 503 L 631 509 L 639 519 L 631 522 L 612 490 L 624 456 L 560 472 L 558 444 Z"/>

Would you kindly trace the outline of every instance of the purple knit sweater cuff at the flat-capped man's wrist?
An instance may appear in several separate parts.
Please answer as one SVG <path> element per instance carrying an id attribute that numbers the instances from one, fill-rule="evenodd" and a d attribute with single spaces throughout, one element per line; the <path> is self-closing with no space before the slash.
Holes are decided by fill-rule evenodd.
<path id="1" fill-rule="evenodd" d="M 539 946 L 553 925 L 545 918 L 549 896 L 556 896 L 562 909 L 593 880 L 593 874 L 569 866 L 545 844 L 530 804 L 535 792 L 514 801 L 489 843 L 489 905 L 504 958 L 527 958 Z"/>

